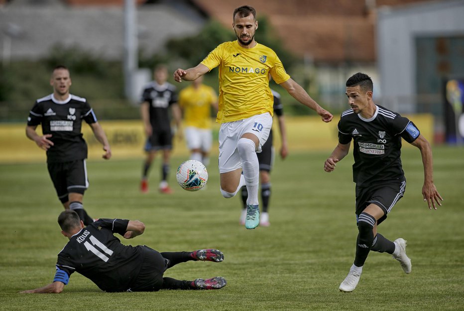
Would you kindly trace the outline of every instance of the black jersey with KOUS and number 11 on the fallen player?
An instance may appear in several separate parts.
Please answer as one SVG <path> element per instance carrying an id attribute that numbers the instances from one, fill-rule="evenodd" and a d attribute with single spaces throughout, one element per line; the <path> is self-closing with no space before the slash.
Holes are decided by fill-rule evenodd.
<path id="1" fill-rule="evenodd" d="M 106 292 L 121 292 L 137 278 L 143 262 L 140 246 L 123 245 L 113 233 L 124 235 L 127 219 L 99 219 L 73 235 L 58 254 L 56 268 L 68 276 L 78 272 Z"/>

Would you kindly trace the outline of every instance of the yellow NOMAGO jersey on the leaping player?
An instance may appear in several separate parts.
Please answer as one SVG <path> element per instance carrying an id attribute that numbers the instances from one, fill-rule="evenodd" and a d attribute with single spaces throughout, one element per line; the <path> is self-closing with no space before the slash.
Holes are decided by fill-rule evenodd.
<path id="1" fill-rule="evenodd" d="M 219 66 L 219 123 L 265 112 L 273 115 L 268 74 L 277 84 L 290 79 L 275 52 L 259 43 L 245 49 L 237 41 L 225 42 L 201 64 L 210 71 Z"/>

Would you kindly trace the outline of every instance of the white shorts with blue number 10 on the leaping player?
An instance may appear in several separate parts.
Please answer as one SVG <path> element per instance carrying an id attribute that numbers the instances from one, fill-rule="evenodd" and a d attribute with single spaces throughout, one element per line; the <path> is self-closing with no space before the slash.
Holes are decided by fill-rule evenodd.
<path id="1" fill-rule="evenodd" d="M 221 124 L 219 130 L 219 173 L 231 172 L 242 167 L 237 143 L 243 134 L 256 135 L 259 139 L 256 152 L 261 152 L 261 147 L 269 137 L 271 127 L 272 117 L 269 112 Z"/>

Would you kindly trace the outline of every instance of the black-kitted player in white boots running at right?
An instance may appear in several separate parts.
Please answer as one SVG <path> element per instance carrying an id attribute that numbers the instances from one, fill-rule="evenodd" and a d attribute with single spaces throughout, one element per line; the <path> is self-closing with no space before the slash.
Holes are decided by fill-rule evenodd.
<path id="1" fill-rule="evenodd" d="M 433 182 L 432 149 L 416 125 L 408 118 L 374 104 L 372 80 L 357 73 L 347 81 L 348 104 L 338 124 L 339 144 L 324 163 L 332 172 L 349 151 L 353 140 L 353 181 L 356 183 L 356 255 L 340 291 L 352 292 L 369 251 L 386 252 L 398 260 L 406 274 L 411 260 L 406 255 L 406 240 L 394 242 L 377 233 L 392 207 L 403 197 L 406 179 L 401 165 L 401 138 L 419 148 L 424 165 L 422 195 L 430 209 L 441 206 L 442 197 Z"/>

